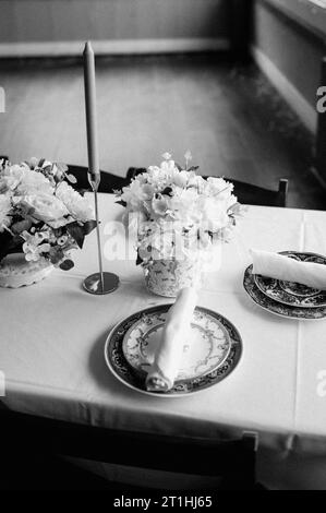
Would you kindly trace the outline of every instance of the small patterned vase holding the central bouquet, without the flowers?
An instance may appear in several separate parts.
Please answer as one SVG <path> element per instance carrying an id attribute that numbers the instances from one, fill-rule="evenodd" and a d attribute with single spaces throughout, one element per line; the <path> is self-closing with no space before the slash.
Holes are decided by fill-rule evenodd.
<path id="1" fill-rule="evenodd" d="M 200 259 L 155 260 L 144 267 L 145 284 L 150 293 L 173 298 L 184 287 L 202 285 Z"/>

